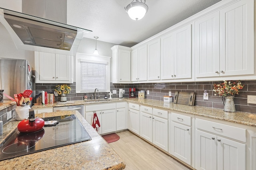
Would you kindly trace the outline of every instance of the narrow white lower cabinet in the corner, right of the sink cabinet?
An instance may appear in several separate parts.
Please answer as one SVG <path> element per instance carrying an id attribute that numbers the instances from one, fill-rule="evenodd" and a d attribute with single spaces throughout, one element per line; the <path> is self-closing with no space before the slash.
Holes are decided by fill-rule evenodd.
<path id="1" fill-rule="evenodd" d="M 127 129 L 127 103 L 116 103 L 116 131 Z"/>

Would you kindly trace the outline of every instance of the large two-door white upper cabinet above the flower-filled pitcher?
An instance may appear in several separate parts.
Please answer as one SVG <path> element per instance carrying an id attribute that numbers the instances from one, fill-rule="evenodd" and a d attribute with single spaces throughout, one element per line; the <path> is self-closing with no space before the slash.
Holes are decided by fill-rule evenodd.
<path id="1" fill-rule="evenodd" d="M 195 21 L 196 78 L 254 74 L 254 1 Z"/>

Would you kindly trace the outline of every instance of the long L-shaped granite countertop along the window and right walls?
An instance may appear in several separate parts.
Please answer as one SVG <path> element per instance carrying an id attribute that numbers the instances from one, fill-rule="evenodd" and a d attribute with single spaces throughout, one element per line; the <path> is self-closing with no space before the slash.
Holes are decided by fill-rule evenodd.
<path id="1" fill-rule="evenodd" d="M 72 103 L 70 103 L 72 102 Z M 248 112 L 225 112 L 223 109 L 216 109 L 211 107 L 203 107 L 203 106 L 187 106 L 182 104 L 174 104 L 174 103 L 165 103 L 159 100 L 151 100 L 151 99 L 139 99 L 139 98 L 113 98 L 112 100 L 100 100 L 100 101 L 92 101 L 87 100 L 86 102 L 83 100 L 70 101 L 64 104 L 51 104 L 51 105 L 36 105 L 32 106 L 32 108 L 43 108 L 43 107 L 59 107 L 59 106 L 72 106 L 72 105 L 86 105 L 86 104 L 105 104 L 110 102 L 132 102 L 137 104 L 142 104 L 145 106 L 158 107 L 159 109 L 167 109 L 170 111 L 180 111 L 183 113 L 189 113 L 192 115 L 199 115 L 203 117 L 209 117 L 213 119 L 229 121 L 233 123 L 239 123 L 242 125 L 249 125 L 256 127 L 256 113 L 248 113 Z"/>

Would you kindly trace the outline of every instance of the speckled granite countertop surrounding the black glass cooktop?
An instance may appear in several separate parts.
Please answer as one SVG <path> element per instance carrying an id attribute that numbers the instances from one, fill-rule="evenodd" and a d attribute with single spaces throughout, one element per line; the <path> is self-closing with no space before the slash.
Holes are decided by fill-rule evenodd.
<path id="1" fill-rule="evenodd" d="M 76 169 L 76 170 L 122 170 L 125 164 L 106 141 L 92 128 L 78 111 L 62 111 L 37 114 L 38 117 L 75 114 L 92 138 L 91 141 L 66 145 L 0 161 L 1 169 Z M 11 120 L 3 127 L 0 142 L 15 130 L 20 121 Z"/>

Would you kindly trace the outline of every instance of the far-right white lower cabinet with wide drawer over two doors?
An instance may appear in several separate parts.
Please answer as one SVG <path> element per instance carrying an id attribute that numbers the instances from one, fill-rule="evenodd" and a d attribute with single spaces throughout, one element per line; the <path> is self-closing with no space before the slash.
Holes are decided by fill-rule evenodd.
<path id="1" fill-rule="evenodd" d="M 214 134 L 208 128 L 214 131 Z M 234 135 L 234 140 L 219 135 L 225 137 Z M 246 137 L 246 129 L 196 119 L 195 168 L 197 170 L 245 170 L 246 145 L 235 141 L 240 139 L 246 142 L 244 137 Z"/>

